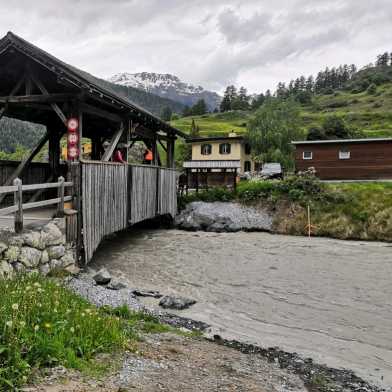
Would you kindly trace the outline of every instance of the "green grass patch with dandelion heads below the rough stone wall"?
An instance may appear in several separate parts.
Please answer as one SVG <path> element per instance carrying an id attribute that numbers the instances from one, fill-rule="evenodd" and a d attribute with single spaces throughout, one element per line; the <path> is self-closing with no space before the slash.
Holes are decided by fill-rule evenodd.
<path id="1" fill-rule="evenodd" d="M 0 280 L 0 292 L 0 390 L 19 388 L 42 367 L 93 372 L 96 354 L 132 349 L 139 333 L 170 328 L 126 307 L 97 309 L 36 275 Z"/>

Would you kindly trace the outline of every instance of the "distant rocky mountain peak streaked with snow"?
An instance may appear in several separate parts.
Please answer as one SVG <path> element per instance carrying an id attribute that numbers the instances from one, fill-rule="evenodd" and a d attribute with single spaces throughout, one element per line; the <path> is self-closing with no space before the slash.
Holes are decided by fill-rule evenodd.
<path id="1" fill-rule="evenodd" d="M 208 108 L 212 111 L 219 106 L 221 97 L 212 91 L 204 90 L 201 86 L 181 81 L 177 76 L 170 74 L 157 74 L 150 72 L 119 73 L 108 79 L 109 82 L 122 86 L 134 87 L 144 90 L 163 98 L 181 102 L 192 106 L 199 99 L 204 99 Z"/>

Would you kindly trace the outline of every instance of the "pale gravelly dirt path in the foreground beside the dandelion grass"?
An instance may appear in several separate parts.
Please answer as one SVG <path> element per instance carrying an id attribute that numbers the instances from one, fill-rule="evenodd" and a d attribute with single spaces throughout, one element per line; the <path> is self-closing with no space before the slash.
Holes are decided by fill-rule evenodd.
<path id="1" fill-rule="evenodd" d="M 106 358 L 106 361 L 109 361 Z M 202 339 L 175 334 L 149 335 L 128 353 L 120 370 L 100 381 L 76 372 L 51 378 L 30 392 L 126 391 L 306 391 L 295 375 L 281 370 L 259 355 L 242 354 Z"/>

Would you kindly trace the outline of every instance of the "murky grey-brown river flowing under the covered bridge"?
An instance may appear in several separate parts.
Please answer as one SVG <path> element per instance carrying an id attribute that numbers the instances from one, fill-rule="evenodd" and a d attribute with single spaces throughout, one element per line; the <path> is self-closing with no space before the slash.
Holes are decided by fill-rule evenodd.
<path id="1" fill-rule="evenodd" d="M 111 238 L 91 266 L 196 299 L 179 314 L 224 337 L 352 369 L 389 389 L 391 254 L 391 244 L 377 242 L 147 230 Z"/>

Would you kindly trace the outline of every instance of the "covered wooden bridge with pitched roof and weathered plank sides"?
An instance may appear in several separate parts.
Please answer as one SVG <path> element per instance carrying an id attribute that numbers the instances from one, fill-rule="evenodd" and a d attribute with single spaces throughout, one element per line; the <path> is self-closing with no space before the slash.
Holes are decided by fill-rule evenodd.
<path id="1" fill-rule="evenodd" d="M 104 80 L 13 33 L 0 40 L 3 116 L 42 124 L 46 132 L 22 162 L 0 162 L 0 185 L 11 186 L 16 178 L 23 184 L 52 183 L 60 176 L 72 182 L 82 261 L 91 259 L 106 235 L 176 213 L 174 145 L 177 137 L 186 135 L 119 95 Z M 61 161 L 65 136 L 68 159 Z M 86 140 L 91 143 L 89 160 L 81 156 Z M 116 154 L 128 162 L 128 150 L 136 142 L 152 152 L 149 165 L 112 162 Z M 32 162 L 44 146 L 48 146 L 48 163 Z M 42 191 L 26 194 L 23 202 L 31 206 L 42 197 Z M 0 199 L 5 203 L 2 195 Z"/>

